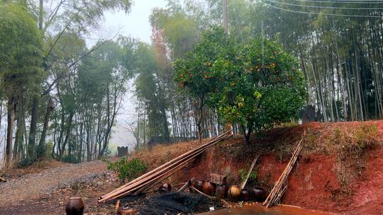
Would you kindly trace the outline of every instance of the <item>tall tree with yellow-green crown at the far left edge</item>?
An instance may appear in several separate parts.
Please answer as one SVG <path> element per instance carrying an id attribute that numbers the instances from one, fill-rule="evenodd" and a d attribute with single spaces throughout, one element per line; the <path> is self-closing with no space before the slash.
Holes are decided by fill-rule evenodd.
<path id="1" fill-rule="evenodd" d="M 16 111 L 41 78 L 42 40 L 35 21 L 21 6 L 1 5 L 0 14 L 0 69 L 8 98 L 6 165 L 9 165 Z"/>

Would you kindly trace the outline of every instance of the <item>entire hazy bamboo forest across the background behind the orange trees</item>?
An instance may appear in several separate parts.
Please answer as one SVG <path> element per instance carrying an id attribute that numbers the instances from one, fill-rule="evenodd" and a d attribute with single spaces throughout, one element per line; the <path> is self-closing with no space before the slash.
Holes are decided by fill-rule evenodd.
<path id="1" fill-rule="evenodd" d="M 99 28 L 104 11 L 129 11 L 131 1 L 14 3 L 19 8 L 0 1 L 2 12 L 18 14 L 1 16 L 1 25 L 12 19 L 25 25 L 17 28 L 19 38 L 12 28 L 2 30 L 1 42 L 9 44 L 1 49 L 11 50 L 26 38 L 34 45 L 21 43 L 25 51 L 9 52 L 12 61 L 0 55 L 0 122 L 6 122 L 0 130 L 6 131 L 1 135 L 8 161 L 33 162 L 43 152 L 73 162 L 103 156 L 129 79 L 138 100 L 136 120 L 128 127 L 136 146 L 151 136 L 196 137 L 199 123 L 204 136 L 223 130 L 217 110 L 204 107 L 199 114 L 199 105 L 179 91 L 172 66 L 196 47 L 204 30 L 221 25 L 221 0 L 169 0 L 166 8 L 152 11 L 151 44 L 109 37 L 94 47 L 85 40 Z M 383 117 L 382 8 L 379 2 L 230 0 L 228 32 L 243 44 L 252 37 L 276 40 L 295 55 L 309 92 L 303 112 L 313 110 L 311 120 L 378 119 Z"/>

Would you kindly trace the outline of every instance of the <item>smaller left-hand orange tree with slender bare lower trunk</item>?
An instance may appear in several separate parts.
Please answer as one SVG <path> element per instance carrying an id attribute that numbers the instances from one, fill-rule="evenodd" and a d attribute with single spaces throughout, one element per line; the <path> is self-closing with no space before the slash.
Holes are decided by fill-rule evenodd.
<path id="1" fill-rule="evenodd" d="M 216 60 L 230 54 L 234 42 L 221 28 L 206 31 L 194 50 L 185 54 L 183 59 L 173 62 L 174 81 L 182 92 L 194 100 L 196 127 L 199 141 L 202 139 L 202 117 L 206 103 L 216 94 L 221 71 L 213 68 Z"/>

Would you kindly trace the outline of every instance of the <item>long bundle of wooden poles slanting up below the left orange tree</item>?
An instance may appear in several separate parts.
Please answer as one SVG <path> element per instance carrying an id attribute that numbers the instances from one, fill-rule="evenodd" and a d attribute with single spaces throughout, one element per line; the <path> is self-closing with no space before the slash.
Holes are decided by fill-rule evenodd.
<path id="1" fill-rule="evenodd" d="M 118 187 L 116 190 L 109 192 L 108 194 L 103 195 L 99 198 L 99 203 L 106 202 L 111 199 L 116 199 L 119 197 L 124 197 L 128 194 L 139 194 L 140 192 L 145 192 L 146 190 L 150 190 L 152 187 L 158 185 L 162 180 L 165 180 L 170 175 L 176 173 L 184 166 L 188 165 L 196 156 L 199 156 L 201 153 L 209 149 L 211 146 L 214 146 L 218 141 L 228 138 L 228 136 L 232 136 L 231 131 L 221 134 L 219 136 L 215 136 L 211 139 L 207 139 L 201 145 L 197 146 L 194 149 L 191 149 L 187 153 L 174 158 L 172 161 L 169 161 L 154 170 L 151 170 L 144 175 L 136 178 L 135 180 L 131 180 L 126 185 Z"/>

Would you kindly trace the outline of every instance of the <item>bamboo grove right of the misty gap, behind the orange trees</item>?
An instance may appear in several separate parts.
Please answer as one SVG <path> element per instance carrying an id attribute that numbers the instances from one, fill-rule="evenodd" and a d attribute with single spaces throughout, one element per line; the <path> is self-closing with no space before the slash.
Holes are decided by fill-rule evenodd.
<path id="1" fill-rule="evenodd" d="M 228 1 L 229 34 L 244 44 L 251 37 L 277 40 L 284 50 L 299 59 L 309 92 L 302 112 L 311 115 L 309 120 L 382 118 L 383 3 L 296 1 L 294 4 L 290 1 Z M 175 136 L 196 136 L 196 107 L 185 95 L 177 93 L 171 62 L 192 50 L 201 32 L 212 25 L 221 25 L 222 8 L 222 1 L 218 0 L 184 4 L 169 1 L 167 8 L 153 11 L 152 50 L 157 70 L 151 77 L 156 85 L 151 92 L 145 85 L 136 86 L 141 102 L 138 133 L 149 130 L 151 134 L 167 136 L 170 128 Z M 143 81 L 141 78 L 139 76 L 137 83 Z M 146 94 L 140 94 L 141 91 Z M 164 106 L 158 109 L 153 103 Z M 141 125 L 144 122 L 148 123 L 146 130 Z M 204 110 L 202 124 L 204 136 L 223 128 L 215 110 Z M 234 129 L 238 131 L 236 125 Z"/>

